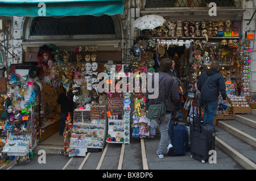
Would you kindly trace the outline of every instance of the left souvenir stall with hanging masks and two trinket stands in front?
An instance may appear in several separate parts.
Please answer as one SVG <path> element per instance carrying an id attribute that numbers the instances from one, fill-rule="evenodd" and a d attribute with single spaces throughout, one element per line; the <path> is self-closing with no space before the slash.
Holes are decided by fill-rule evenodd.
<path id="1" fill-rule="evenodd" d="M 105 142 L 130 143 L 131 94 L 122 91 L 129 86 L 122 77 L 129 77 L 130 65 L 98 61 L 98 54 L 94 45 L 59 50 L 50 44 L 38 51 L 38 77 L 42 82 L 38 140 L 51 134 L 46 116 L 53 114 L 50 122 L 54 124 L 50 125 L 59 128 L 56 123 L 60 116 L 56 113 L 60 109 L 55 100 L 64 87 L 75 103 L 73 117 L 67 117 L 64 131 L 62 153 L 69 156 L 85 156 L 90 149 L 104 148 Z"/>

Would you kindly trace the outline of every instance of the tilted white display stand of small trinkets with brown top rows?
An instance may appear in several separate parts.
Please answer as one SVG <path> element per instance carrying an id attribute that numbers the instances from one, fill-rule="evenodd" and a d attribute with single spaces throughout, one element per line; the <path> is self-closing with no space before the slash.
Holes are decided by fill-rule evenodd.
<path id="1" fill-rule="evenodd" d="M 69 148 L 75 156 L 85 157 L 88 148 L 102 149 L 106 138 L 106 108 L 91 106 L 90 110 L 74 111 Z"/>

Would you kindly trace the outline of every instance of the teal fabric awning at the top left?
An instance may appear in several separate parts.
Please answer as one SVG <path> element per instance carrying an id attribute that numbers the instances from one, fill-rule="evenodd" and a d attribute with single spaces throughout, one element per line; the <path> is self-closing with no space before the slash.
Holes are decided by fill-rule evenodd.
<path id="1" fill-rule="evenodd" d="M 0 0 L 0 16 L 123 14 L 124 0 Z"/>

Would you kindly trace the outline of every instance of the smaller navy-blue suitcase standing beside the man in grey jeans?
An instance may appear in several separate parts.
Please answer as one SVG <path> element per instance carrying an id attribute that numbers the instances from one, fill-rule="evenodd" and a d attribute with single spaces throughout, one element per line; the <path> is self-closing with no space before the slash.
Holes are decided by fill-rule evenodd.
<path id="1" fill-rule="evenodd" d="M 174 117 L 171 125 L 171 143 L 175 151 L 172 155 L 185 155 L 188 147 L 188 129 L 175 121 Z"/>

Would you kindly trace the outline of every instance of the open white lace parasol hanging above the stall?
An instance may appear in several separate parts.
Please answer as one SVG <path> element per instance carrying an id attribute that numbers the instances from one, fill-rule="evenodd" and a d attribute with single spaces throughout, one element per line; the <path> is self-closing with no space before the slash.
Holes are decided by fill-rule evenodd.
<path id="1" fill-rule="evenodd" d="M 141 18 L 136 19 L 133 22 L 133 27 L 134 28 L 139 28 L 141 30 L 145 29 L 154 29 L 156 27 L 162 26 L 163 22 L 166 20 L 159 15 L 145 15 L 142 16 Z"/>

